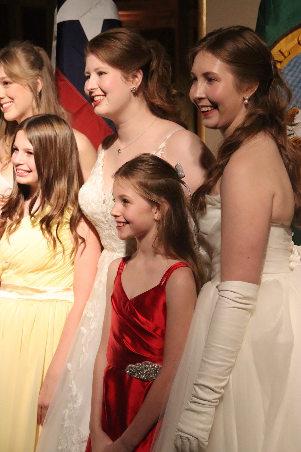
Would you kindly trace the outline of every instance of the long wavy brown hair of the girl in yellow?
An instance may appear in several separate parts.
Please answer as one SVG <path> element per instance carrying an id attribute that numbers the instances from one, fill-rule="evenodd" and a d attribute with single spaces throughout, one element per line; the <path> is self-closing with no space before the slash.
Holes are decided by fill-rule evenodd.
<path id="1" fill-rule="evenodd" d="M 71 126 L 62 118 L 51 114 L 40 114 L 25 119 L 15 130 L 23 130 L 32 144 L 37 167 L 38 186 L 29 203 L 29 216 L 34 223 L 39 222 L 48 245 L 56 249 L 60 240 L 60 226 L 66 211 L 70 214 L 69 227 L 74 237 L 71 254 L 83 242 L 77 232 L 82 213 L 79 208 L 78 193 L 82 184 L 79 170 L 79 155 Z M 0 236 L 5 229 L 9 236 L 18 229 L 24 216 L 24 201 L 29 198 L 29 187 L 18 184 L 14 178 L 14 187 L 0 215 Z M 39 199 L 38 207 L 34 208 Z M 54 232 L 55 231 L 55 232 Z"/>

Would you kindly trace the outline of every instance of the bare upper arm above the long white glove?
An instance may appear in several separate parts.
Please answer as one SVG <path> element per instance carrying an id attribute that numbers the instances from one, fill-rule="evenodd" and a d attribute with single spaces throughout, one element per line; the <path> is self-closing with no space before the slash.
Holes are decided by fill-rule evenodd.
<path id="1" fill-rule="evenodd" d="M 234 155 L 221 183 L 222 281 L 259 283 L 273 197 L 260 162 L 246 153 Z"/>

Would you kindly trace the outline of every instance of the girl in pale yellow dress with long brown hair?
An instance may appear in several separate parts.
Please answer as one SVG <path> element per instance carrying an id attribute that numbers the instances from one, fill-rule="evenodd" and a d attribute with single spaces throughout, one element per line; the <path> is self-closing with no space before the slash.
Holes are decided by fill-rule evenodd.
<path id="1" fill-rule="evenodd" d="M 67 122 L 48 114 L 21 122 L 11 161 L 14 187 L 0 216 L 0 450 L 32 452 L 101 249 L 79 209 Z"/>

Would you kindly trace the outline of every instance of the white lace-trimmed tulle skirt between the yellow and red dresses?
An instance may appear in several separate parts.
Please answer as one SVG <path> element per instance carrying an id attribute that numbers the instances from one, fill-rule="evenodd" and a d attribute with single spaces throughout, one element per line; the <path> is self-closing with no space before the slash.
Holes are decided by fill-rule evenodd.
<path id="1" fill-rule="evenodd" d="M 36 452 L 84 452 L 89 435 L 92 378 L 102 335 L 107 270 L 123 254 L 103 250 L 79 327 L 69 349 Z"/>

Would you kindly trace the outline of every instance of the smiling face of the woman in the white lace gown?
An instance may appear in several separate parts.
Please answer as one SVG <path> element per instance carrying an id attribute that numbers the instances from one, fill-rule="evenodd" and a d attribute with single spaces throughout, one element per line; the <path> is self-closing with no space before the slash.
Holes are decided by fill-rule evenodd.
<path id="1" fill-rule="evenodd" d="M 131 83 L 125 80 L 121 71 L 91 54 L 86 58 L 85 76 L 85 93 L 94 112 L 98 116 L 118 120 L 133 97 Z"/>

